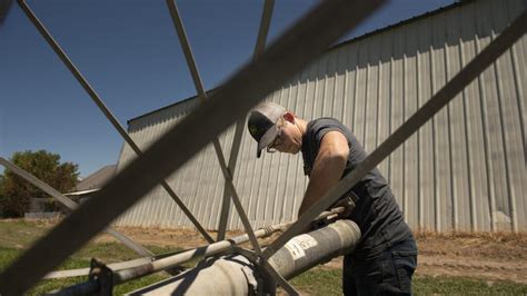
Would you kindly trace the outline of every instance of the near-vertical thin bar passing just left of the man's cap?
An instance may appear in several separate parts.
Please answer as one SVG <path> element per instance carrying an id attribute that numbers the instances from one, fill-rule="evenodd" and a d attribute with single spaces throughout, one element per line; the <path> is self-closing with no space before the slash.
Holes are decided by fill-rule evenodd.
<path id="1" fill-rule="evenodd" d="M 256 41 L 253 58 L 258 57 L 264 52 L 266 47 L 267 33 L 269 32 L 269 27 L 271 23 L 272 8 L 275 6 L 275 0 L 266 0 L 264 4 L 264 11 L 261 13 L 260 29 L 258 30 L 258 39 Z M 235 137 L 232 139 L 232 145 L 230 146 L 230 156 L 229 156 L 229 166 L 228 169 L 231 172 L 231 176 L 235 177 L 236 162 L 238 160 L 238 152 L 240 150 L 241 144 L 241 134 L 243 131 L 245 118 L 236 121 Z M 227 219 L 229 218 L 230 211 L 230 196 L 225 184 L 223 198 L 221 204 L 221 214 L 218 225 L 218 240 L 225 239 L 225 233 L 227 229 Z"/>

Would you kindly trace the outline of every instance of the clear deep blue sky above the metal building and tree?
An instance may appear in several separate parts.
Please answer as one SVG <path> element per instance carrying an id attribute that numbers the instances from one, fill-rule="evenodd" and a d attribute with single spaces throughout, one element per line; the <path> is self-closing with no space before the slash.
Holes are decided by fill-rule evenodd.
<path id="1" fill-rule="evenodd" d="M 344 40 L 448 6 L 396 0 Z M 36 14 L 125 128 L 127 120 L 196 95 L 162 0 L 29 0 Z M 253 51 L 264 1 L 177 1 L 207 89 Z M 272 40 L 317 1 L 277 0 Z M 116 164 L 123 140 L 13 3 L 0 27 L 0 155 L 46 149 L 82 177 Z M 1 169 L 0 169 L 1 171 Z"/>

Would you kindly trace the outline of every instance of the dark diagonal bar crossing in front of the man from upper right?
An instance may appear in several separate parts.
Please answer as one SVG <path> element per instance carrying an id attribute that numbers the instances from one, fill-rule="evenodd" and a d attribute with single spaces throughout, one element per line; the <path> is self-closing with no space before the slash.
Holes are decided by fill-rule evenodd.
<path id="1" fill-rule="evenodd" d="M 299 234 L 324 209 L 328 208 L 339 197 L 359 182 L 366 174 L 405 142 L 414 132 L 434 117 L 456 95 L 476 79 L 488 66 L 510 48 L 527 29 L 527 12 L 524 11 L 493 42 L 463 68 L 448 83 L 417 110 L 402 126 L 388 137 L 351 172 L 346 175 L 328 194 L 312 205 L 288 230 L 269 245 L 264 251 L 265 258 L 270 258 L 290 238 Z"/>

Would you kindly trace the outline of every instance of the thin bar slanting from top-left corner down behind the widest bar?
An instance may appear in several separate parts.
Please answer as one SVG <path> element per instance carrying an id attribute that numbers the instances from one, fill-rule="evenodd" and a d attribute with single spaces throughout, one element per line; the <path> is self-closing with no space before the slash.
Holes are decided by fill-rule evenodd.
<path id="1" fill-rule="evenodd" d="M 136 155 L 141 156 L 142 155 L 141 149 L 139 149 L 139 147 L 132 140 L 130 135 L 128 135 L 128 132 L 125 130 L 125 128 L 121 126 L 121 124 L 119 124 L 119 121 L 111 114 L 111 111 L 108 109 L 108 107 L 105 105 L 105 102 L 100 99 L 99 95 L 97 95 L 97 92 L 88 83 L 86 78 L 81 75 L 81 72 L 77 69 L 77 67 L 71 62 L 71 60 L 68 58 L 66 52 L 60 48 L 59 43 L 54 40 L 54 38 L 51 36 L 51 33 L 46 29 L 46 27 L 42 24 L 42 22 L 37 18 L 34 12 L 29 8 L 29 6 L 26 3 L 26 1 L 24 0 L 18 0 L 18 4 L 23 10 L 23 12 L 27 14 L 27 17 L 31 20 L 31 22 L 34 24 L 34 27 L 37 27 L 37 29 L 42 34 L 42 37 L 46 39 L 48 45 L 54 50 L 54 52 L 59 56 L 59 58 L 62 60 L 62 62 L 66 65 L 66 67 L 71 71 L 71 73 L 74 76 L 74 78 L 77 78 L 77 81 L 79 81 L 79 83 L 84 88 L 84 90 L 88 92 L 90 98 L 96 102 L 96 105 L 99 107 L 99 109 L 105 114 L 105 116 L 113 125 L 113 127 L 121 135 L 121 137 L 127 141 L 127 144 L 130 146 L 130 148 L 132 148 L 132 150 L 136 152 Z M 165 190 L 167 190 L 167 193 L 170 195 L 170 197 L 173 199 L 173 201 L 176 201 L 176 204 L 187 215 L 187 217 L 196 226 L 196 228 L 199 230 L 199 233 L 201 233 L 201 235 L 205 237 L 205 239 L 207 239 L 208 243 L 213 243 L 215 240 L 212 239 L 212 237 L 199 224 L 199 221 L 196 219 L 196 217 L 192 215 L 192 213 L 187 208 L 187 206 L 181 201 L 181 199 L 170 188 L 170 186 L 167 184 L 167 181 L 165 179 L 162 179 L 159 184 L 165 188 Z"/>

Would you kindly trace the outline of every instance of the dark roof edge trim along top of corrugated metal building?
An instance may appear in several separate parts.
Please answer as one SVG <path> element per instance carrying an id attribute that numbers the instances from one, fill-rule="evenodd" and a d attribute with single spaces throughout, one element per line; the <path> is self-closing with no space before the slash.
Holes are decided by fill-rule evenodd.
<path id="1" fill-rule="evenodd" d="M 409 19 L 399 21 L 399 22 L 394 23 L 394 24 L 389 24 L 389 26 L 387 26 L 387 27 L 384 27 L 384 28 L 380 28 L 380 29 L 377 29 L 377 30 L 374 30 L 374 31 L 364 33 L 364 34 L 361 34 L 361 36 L 351 38 L 351 39 L 349 39 L 349 40 L 345 40 L 345 41 L 342 41 L 342 42 L 339 42 L 339 43 L 337 43 L 337 45 L 331 46 L 331 47 L 328 48 L 326 51 L 335 50 L 336 48 L 339 48 L 339 47 L 342 47 L 342 46 L 346 46 L 346 45 L 349 45 L 349 43 L 357 42 L 357 41 L 359 41 L 359 40 L 362 40 L 362 39 L 365 39 L 365 38 L 371 37 L 371 36 L 374 36 L 374 34 L 379 34 L 379 33 L 381 33 L 381 32 L 391 30 L 391 29 L 394 29 L 394 28 L 401 27 L 401 26 L 404 26 L 404 24 L 411 23 L 411 22 L 418 21 L 418 20 L 420 20 L 420 19 L 428 18 L 428 17 L 431 17 L 431 16 L 435 16 L 435 14 L 438 14 L 438 13 L 443 13 L 443 12 L 445 12 L 445 11 L 455 9 L 455 8 L 460 7 L 460 6 L 465 6 L 465 4 L 470 3 L 470 2 L 474 2 L 474 1 L 475 1 L 475 0 L 457 0 L 457 2 L 454 2 L 454 3 L 449 4 L 449 6 L 440 7 L 440 8 L 436 9 L 436 10 L 425 12 L 425 13 L 422 13 L 422 14 L 419 14 L 419 16 L 416 16 L 416 17 L 412 17 L 412 18 L 409 18 Z M 215 91 L 218 90 L 220 87 L 221 87 L 221 86 L 216 87 L 216 88 L 210 89 L 210 90 L 207 90 L 206 93 L 209 96 L 209 95 L 211 95 L 211 92 L 215 92 Z M 156 112 L 158 112 L 158 111 L 160 111 L 160 110 L 168 109 L 168 108 L 173 107 L 173 106 L 177 106 L 177 105 L 179 105 L 179 103 L 182 103 L 182 102 L 186 102 L 186 101 L 189 101 L 189 100 L 193 100 L 193 99 L 196 99 L 196 98 L 198 98 L 198 96 L 192 96 L 192 97 L 190 97 L 190 98 L 186 98 L 186 99 L 182 99 L 182 100 L 178 100 L 178 101 L 176 101 L 176 102 L 173 102 L 173 103 L 170 103 L 170 105 L 168 105 L 168 106 L 165 106 L 165 107 L 161 107 L 161 108 L 159 108 L 159 109 L 156 109 L 156 110 L 149 111 L 149 112 L 147 112 L 147 114 L 140 115 L 140 116 L 138 116 L 138 117 L 131 118 L 131 119 L 129 119 L 127 122 L 128 122 L 128 125 L 130 125 L 130 122 L 133 121 L 133 120 L 143 118 L 143 117 L 147 117 L 147 116 L 149 116 L 149 115 L 151 115 L 151 114 L 156 114 Z"/>

